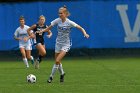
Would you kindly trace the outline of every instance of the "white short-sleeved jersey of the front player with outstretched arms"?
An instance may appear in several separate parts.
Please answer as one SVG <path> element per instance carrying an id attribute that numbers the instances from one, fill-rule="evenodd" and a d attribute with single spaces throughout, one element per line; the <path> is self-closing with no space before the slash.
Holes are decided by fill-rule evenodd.
<path id="1" fill-rule="evenodd" d="M 72 27 L 76 27 L 77 24 L 68 18 L 65 22 L 62 22 L 60 18 L 57 18 L 51 22 L 51 25 L 57 25 L 58 35 L 56 38 L 56 43 L 70 45 L 70 32 Z"/>

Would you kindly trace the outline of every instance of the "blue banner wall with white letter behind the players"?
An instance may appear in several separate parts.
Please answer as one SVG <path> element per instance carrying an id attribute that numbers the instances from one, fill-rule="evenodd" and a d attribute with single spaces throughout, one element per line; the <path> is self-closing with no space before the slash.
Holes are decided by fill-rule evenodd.
<path id="1" fill-rule="evenodd" d="M 20 58 L 18 41 L 13 34 L 23 15 L 26 25 L 38 22 L 40 15 L 46 24 L 58 17 L 58 9 L 66 5 L 69 19 L 81 25 L 89 39 L 73 28 L 72 47 L 68 57 L 140 56 L 139 0 L 1 0 L 0 1 L 0 60 Z M 51 39 L 45 37 L 47 57 L 54 56 L 56 27 Z M 36 55 L 35 47 L 32 51 Z M 6 59 L 5 59 L 6 58 Z"/>

